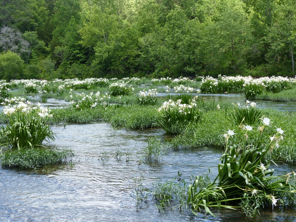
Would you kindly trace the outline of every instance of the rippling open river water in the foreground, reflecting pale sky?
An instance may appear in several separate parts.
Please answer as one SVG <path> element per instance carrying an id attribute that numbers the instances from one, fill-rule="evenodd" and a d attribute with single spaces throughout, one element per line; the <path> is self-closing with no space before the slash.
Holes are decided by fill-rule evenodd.
<path id="1" fill-rule="evenodd" d="M 189 181 L 211 169 L 217 173 L 221 149 L 168 151 L 160 163 L 141 163 L 149 138 L 165 137 L 161 129 L 114 131 L 106 123 L 53 126 L 57 139 L 50 146 L 72 149 L 74 165 L 55 166 L 48 173 L 0 169 L 0 221 L 244 221 L 232 210 L 213 210 L 217 217 L 189 210 L 158 213 L 152 195 L 136 211 L 135 178 L 147 189 L 157 180 L 173 179 L 177 171 Z M 117 151 L 119 159 L 115 158 Z M 280 165 L 286 174 L 293 167 Z M 257 221 L 295 221 L 293 210 L 266 210 Z"/>

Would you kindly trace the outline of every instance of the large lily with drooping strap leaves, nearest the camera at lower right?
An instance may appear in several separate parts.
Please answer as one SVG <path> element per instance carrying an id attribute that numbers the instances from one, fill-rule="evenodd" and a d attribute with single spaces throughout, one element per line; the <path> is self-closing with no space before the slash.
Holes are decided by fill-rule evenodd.
<path id="1" fill-rule="evenodd" d="M 286 204 L 284 197 L 296 192 L 294 184 L 289 180 L 296 176 L 291 172 L 283 176 L 272 176 L 274 169 L 269 169 L 270 160 L 266 159 L 268 152 L 278 146 L 283 139 L 283 130 L 276 128 L 276 133 L 270 137 L 269 143 L 262 141 L 261 135 L 270 121 L 263 120 L 254 143 L 248 144 L 246 136 L 252 127 L 245 127 L 244 136 L 237 145 L 229 146 L 229 140 L 236 133 L 228 130 L 223 136 L 226 149 L 218 164 L 218 175 L 206 187 L 199 187 L 199 177 L 188 186 L 187 203 L 193 210 L 205 209 L 213 215 L 209 207 L 241 209 L 244 215 L 254 216 L 263 207 L 277 206 L 278 202 Z M 239 127 L 241 129 L 242 127 Z M 239 130 L 237 135 L 239 135 Z M 237 141 L 239 138 L 235 138 Z M 287 194 L 287 195 L 285 195 Z M 295 195 L 289 196 L 295 202 Z"/>

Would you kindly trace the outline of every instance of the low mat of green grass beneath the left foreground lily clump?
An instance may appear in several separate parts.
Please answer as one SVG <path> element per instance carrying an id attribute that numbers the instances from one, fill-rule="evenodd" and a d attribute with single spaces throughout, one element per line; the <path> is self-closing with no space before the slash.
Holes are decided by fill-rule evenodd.
<path id="1" fill-rule="evenodd" d="M 0 153 L 2 167 L 40 168 L 53 164 L 69 163 L 74 153 L 71 150 L 22 147 Z"/>

